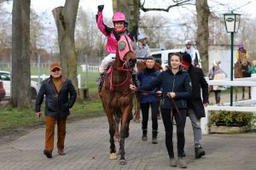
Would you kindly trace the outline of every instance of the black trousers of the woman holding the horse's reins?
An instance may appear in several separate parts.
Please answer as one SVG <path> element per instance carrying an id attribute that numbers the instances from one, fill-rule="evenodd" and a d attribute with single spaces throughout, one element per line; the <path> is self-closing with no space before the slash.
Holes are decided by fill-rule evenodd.
<path id="1" fill-rule="evenodd" d="M 186 123 L 186 114 L 187 109 L 179 109 L 181 113 L 181 118 L 178 116 L 176 110 L 173 110 L 173 116 L 175 118 L 175 122 L 177 124 L 177 156 L 183 156 L 183 150 L 185 145 L 185 136 L 184 136 L 184 127 Z M 172 143 L 172 131 L 173 125 L 171 122 L 171 110 L 170 109 L 161 109 L 161 116 L 164 122 L 165 130 L 166 130 L 166 148 L 168 151 L 168 155 L 170 158 L 174 157 L 173 153 L 173 143 Z"/>

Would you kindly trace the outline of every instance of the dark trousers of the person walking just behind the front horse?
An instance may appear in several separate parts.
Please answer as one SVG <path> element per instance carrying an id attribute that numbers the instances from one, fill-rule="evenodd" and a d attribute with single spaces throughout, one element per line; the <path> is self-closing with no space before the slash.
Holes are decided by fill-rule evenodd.
<path id="1" fill-rule="evenodd" d="M 141 103 L 141 109 L 143 113 L 143 129 L 148 129 L 149 105 L 151 106 L 152 130 L 157 131 L 158 129 L 157 114 L 159 113 L 159 105 L 160 105 L 159 101 L 152 102 L 152 103 Z"/>

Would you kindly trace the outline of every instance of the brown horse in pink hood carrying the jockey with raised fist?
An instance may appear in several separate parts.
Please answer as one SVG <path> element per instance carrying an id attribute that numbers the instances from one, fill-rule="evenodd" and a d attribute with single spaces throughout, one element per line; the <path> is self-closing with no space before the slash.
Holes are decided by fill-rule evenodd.
<path id="1" fill-rule="evenodd" d="M 130 37 L 121 36 L 113 65 L 105 74 L 99 94 L 102 106 L 108 116 L 110 134 L 110 160 L 117 159 L 114 134 L 121 121 L 119 153 L 121 165 L 125 165 L 125 138 L 129 136 L 129 123 L 132 116 L 132 97 L 130 89 L 132 68 L 136 64 L 134 44 Z"/>

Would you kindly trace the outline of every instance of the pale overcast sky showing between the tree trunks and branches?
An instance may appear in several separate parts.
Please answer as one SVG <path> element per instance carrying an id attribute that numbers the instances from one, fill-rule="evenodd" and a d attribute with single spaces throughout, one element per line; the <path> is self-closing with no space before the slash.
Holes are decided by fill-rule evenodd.
<path id="1" fill-rule="evenodd" d="M 52 32 L 55 31 L 55 21 L 51 10 L 59 6 L 64 6 L 65 1 L 66 0 L 31 0 L 31 7 L 36 11 L 36 13 L 43 16 L 43 22 L 46 24 L 45 26 L 48 25 L 48 27 L 51 29 L 50 32 Z M 172 3 L 172 1 L 166 0 L 145 0 L 145 2 L 146 8 L 166 8 Z M 84 8 L 84 10 L 89 12 L 89 14 L 96 14 L 97 6 L 100 4 L 105 5 L 103 10 L 104 18 L 111 20 L 113 15 L 112 0 L 80 0 L 79 7 Z M 242 14 L 243 18 L 256 18 L 256 0 L 208 0 L 208 4 L 210 6 L 210 10 L 214 12 L 214 14 L 217 14 L 218 17 L 223 17 L 224 13 L 234 10 L 235 13 Z M 12 3 L 9 3 L 8 6 L 9 11 L 11 11 Z M 188 15 L 193 16 L 192 13 L 195 14 L 195 5 L 172 8 L 169 13 L 155 11 L 143 13 L 143 11 L 141 11 L 141 16 L 144 14 L 162 15 L 166 18 L 166 20 L 168 20 L 166 24 L 170 24 L 171 22 L 182 22 L 184 17 Z"/>

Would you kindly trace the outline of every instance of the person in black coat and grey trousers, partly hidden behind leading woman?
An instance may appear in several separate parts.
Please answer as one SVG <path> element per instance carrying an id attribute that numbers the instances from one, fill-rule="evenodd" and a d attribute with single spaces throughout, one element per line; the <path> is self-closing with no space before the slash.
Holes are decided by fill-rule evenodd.
<path id="1" fill-rule="evenodd" d="M 208 83 L 201 68 L 191 64 L 189 54 L 183 54 L 183 71 L 188 71 L 192 83 L 192 95 L 188 99 L 188 116 L 194 131 L 195 158 L 205 155 L 201 146 L 201 117 L 205 117 L 205 108 L 209 104 Z M 201 91 L 202 99 L 201 100 Z"/>

